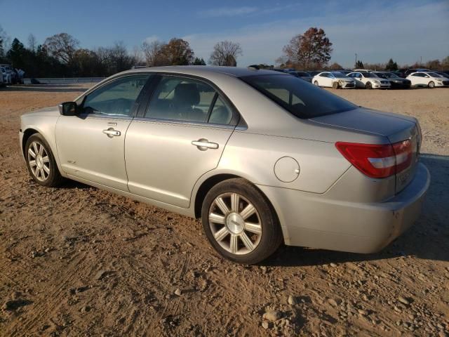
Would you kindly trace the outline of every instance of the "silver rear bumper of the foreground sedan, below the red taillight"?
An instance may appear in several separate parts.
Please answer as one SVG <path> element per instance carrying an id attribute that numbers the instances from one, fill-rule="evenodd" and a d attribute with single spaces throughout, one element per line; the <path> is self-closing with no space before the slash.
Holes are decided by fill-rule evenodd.
<path id="1" fill-rule="evenodd" d="M 287 245 L 375 253 L 415 223 L 429 183 L 429 171 L 418 164 L 410 184 L 380 203 L 339 201 L 326 199 L 326 194 L 259 187 L 276 209 Z"/>

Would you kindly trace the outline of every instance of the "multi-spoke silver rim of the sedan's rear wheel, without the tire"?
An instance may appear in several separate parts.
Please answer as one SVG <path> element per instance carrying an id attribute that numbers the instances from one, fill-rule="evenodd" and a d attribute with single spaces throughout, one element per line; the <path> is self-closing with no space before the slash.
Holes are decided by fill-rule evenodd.
<path id="1" fill-rule="evenodd" d="M 262 221 L 255 206 L 238 193 L 224 193 L 209 209 L 209 227 L 222 249 L 236 255 L 256 249 L 262 238 Z"/>

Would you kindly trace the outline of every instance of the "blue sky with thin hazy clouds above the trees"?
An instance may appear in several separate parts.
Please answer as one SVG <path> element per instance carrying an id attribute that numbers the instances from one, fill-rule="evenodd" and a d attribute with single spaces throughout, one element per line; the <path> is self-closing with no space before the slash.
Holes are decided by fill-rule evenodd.
<path id="1" fill-rule="evenodd" d="M 142 41 L 189 41 L 209 58 L 215 43 L 241 44 L 239 66 L 274 64 L 292 37 L 321 27 L 333 43 L 330 62 L 358 60 L 398 64 L 449 55 L 449 0 L 119 1 L 0 0 L 0 25 L 25 46 L 67 32 L 83 48 L 123 41 L 129 51 Z"/>

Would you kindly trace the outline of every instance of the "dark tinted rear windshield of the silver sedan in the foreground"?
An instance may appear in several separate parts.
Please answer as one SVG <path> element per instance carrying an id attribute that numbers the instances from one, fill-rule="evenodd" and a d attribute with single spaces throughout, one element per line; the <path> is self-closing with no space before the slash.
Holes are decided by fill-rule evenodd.
<path id="1" fill-rule="evenodd" d="M 241 77 L 296 117 L 314 118 L 356 109 L 356 105 L 325 89 L 293 76 L 260 75 Z"/>

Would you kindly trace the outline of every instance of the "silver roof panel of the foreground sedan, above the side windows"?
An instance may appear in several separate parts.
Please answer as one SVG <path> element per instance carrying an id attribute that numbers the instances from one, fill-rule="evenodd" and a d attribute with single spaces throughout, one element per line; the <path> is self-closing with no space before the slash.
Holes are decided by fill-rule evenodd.
<path id="1" fill-rule="evenodd" d="M 281 72 L 274 72 L 273 70 L 257 70 L 255 68 L 242 68 L 242 67 L 219 67 L 219 66 L 205 66 L 205 65 L 175 65 L 168 67 L 142 67 L 133 70 L 127 70 L 126 72 L 173 72 L 178 74 L 191 74 L 204 76 L 206 74 L 227 74 L 234 77 L 243 77 L 251 75 L 269 75 L 269 74 L 282 74 Z"/>

